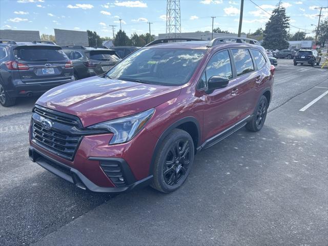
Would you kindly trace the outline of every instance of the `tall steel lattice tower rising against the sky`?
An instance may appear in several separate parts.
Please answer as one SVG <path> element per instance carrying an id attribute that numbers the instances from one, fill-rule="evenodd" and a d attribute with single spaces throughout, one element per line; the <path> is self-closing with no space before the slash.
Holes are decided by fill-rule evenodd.
<path id="1" fill-rule="evenodd" d="M 181 17 L 180 17 L 180 0 L 167 0 L 166 7 L 166 36 L 180 36 Z"/>

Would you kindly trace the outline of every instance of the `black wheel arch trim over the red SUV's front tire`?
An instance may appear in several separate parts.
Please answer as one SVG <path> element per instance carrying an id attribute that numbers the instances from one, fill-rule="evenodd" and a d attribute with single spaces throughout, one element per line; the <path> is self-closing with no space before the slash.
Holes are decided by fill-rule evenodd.
<path id="1" fill-rule="evenodd" d="M 169 133 L 173 129 L 181 129 L 186 132 L 188 132 L 194 142 L 194 148 L 195 148 L 195 154 L 197 152 L 197 147 L 200 146 L 201 144 L 201 131 L 200 131 L 200 126 L 199 122 L 195 117 L 188 116 L 182 119 L 179 119 L 175 121 L 172 125 L 170 125 L 163 133 L 160 135 L 156 142 L 156 146 L 152 155 L 151 163 L 150 163 L 150 168 L 149 168 L 149 174 L 151 175 L 153 173 L 153 168 L 154 168 L 154 162 L 156 158 L 157 151 L 162 144 L 163 140 L 165 139 L 166 136 L 169 135 Z"/>

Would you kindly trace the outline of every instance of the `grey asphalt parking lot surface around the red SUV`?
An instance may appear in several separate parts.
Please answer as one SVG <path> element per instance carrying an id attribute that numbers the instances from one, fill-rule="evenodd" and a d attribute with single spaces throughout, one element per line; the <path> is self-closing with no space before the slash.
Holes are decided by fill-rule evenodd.
<path id="1" fill-rule="evenodd" d="M 1 107 L 0 244 L 324 245 L 328 96 L 299 110 L 328 90 L 328 73 L 278 63 L 264 128 L 199 153 L 186 184 L 168 195 L 78 190 L 28 157 L 36 98 Z"/>

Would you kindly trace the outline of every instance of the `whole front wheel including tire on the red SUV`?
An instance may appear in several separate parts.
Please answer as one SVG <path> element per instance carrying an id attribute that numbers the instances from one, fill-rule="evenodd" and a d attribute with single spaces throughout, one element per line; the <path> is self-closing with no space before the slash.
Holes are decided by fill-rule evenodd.
<path id="1" fill-rule="evenodd" d="M 194 142 L 190 134 L 174 129 L 162 142 L 154 163 L 151 187 L 170 193 L 186 181 L 194 162 Z"/>

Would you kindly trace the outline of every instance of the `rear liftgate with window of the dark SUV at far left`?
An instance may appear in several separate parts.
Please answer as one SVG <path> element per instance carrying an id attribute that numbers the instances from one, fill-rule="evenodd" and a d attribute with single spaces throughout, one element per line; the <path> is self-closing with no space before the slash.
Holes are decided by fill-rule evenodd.
<path id="1" fill-rule="evenodd" d="M 18 46 L 14 49 L 15 59 L 20 66 L 19 76 L 23 83 L 52 83 L 71 80 L 72 68 L 59 46 Z"/>

